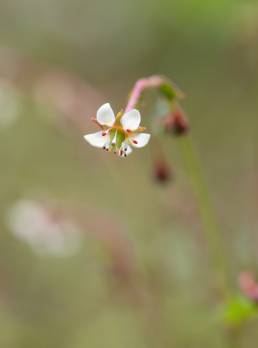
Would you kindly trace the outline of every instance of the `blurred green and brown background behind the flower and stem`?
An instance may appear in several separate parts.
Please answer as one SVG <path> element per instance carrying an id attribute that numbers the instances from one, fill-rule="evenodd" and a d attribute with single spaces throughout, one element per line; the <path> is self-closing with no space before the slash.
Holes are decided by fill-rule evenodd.
<path id="1" fill-rule="evenodd" d="M 155 144 L 121 160 L 83 139 L 152 74 L 186 94 L 234 291 L 257 270 L 257 2 L 2 1 L 1 347 L 225 347 L 178 140 L 161 183 Z"/>

